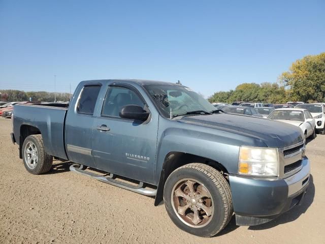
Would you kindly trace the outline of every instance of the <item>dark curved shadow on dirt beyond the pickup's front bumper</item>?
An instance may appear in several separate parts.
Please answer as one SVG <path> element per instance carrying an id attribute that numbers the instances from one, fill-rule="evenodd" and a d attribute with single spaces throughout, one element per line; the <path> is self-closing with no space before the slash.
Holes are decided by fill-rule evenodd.
<path id="1" fill-rule="evenodd" d="M 315 186 L 313 183 L 313 176 L 310 175 L 309 176 L 309 187 L 307 189 L 307 193 L 305 194 L 305 197 L 304 197 L 300 206 L 297 206 L 297 205 L 294 206 L 289 211 L 280 215 L 278 218 L 276 218 L 275 220 L 273 220 L 271 222 L 268 222 L 268 223 L 265 223 L 262 225 L 250 226 L 248 229 L 249 230 L 265 230 L 265 229 L 270 229 L 270 228 L 273 228 L 273 227 L 281 225 L 281 224 L 295 221 L 302 214 L 305 214 L 308 207 L 314 201 L 314 196 L 315 196 Z"/>

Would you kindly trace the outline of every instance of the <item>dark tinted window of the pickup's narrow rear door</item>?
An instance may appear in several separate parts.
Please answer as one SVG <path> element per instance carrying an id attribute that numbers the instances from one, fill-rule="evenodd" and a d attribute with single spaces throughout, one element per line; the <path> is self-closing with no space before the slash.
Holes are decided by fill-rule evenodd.
<path id="1" fill-rule="evenodd" d="M 101 86 L 84 86 L 78 102 L 78 113 L 93 114 Z"/>

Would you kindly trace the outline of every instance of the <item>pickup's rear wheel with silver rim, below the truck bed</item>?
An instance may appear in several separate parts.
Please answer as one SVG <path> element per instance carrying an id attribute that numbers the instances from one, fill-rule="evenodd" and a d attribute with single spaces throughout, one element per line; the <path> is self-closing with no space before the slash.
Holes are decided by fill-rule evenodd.
<path id="1" fill-rule="evenodd" d="M 27 136 L 22 150 L 24 166 L 29 173 L 43 174 L 50 171 L 53 157 L 44 150 L 42 135 Z"/>

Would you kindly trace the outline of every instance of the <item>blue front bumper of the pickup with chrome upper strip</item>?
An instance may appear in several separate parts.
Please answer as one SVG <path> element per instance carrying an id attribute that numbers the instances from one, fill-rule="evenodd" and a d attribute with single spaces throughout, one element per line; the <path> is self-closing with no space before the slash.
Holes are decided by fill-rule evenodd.
<path id="1" fill-rule="evenodd" d="M 237 225 L 267 223 L 303 200 L 309 185 L 310 163 L 285 179 L 229 175 Z"/>

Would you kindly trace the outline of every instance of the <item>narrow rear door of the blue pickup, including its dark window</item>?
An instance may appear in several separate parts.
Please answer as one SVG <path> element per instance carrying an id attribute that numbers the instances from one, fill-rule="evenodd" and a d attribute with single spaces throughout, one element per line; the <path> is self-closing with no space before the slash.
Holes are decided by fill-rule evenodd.
<path id="1" fill-rule="evenodd" d="M 101 84 L 89 83 L 78 89 L 76 94 L 80 94 L 79 98 L 70 104 L 66 119 L 66 150 L 69 160 L 94 167 L 91 154 L 93 113 L 99 100 Z"/>

